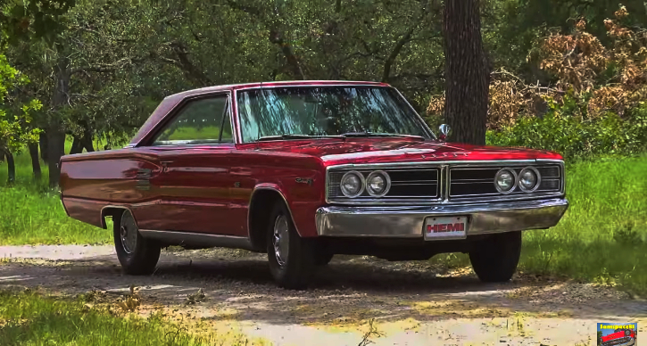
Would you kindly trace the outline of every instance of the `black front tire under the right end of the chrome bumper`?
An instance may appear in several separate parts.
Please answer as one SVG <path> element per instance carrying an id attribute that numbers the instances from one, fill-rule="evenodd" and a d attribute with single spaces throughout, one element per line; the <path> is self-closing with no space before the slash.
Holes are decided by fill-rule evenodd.
<path id="1" fill-rule="evenodd" d="M 474 272 L 485 283 L 503 283 L 517 271 L 521 254 L 521 232 L 491 235 L 469 251 Z"/>

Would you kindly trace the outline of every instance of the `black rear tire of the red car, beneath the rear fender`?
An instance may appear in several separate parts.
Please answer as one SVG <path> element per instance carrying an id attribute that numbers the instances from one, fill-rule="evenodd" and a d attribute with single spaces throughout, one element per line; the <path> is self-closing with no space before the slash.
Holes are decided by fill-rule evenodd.
<path id="1" fill-rule="evenodd" d="M 160 244 L 142 237 L 130 210 L 124 210 L 113 217 L 112 224 L 114 248 L 124 273 L 134 276 L 153 274 L 157 261 L 160 260 Z M 126 235 L 133 238 L 128 237 L 129 240 L 123 241 L 121 227 L 125 227 Z M 134 246 L 132 240 L 135 241 Z"/>

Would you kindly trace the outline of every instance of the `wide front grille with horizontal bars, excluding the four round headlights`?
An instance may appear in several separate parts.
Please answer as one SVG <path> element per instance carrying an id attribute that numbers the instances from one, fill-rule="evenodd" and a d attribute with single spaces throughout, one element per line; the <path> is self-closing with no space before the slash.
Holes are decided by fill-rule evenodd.
<path id="1" fill-rule="evenodd" d="M 500 169 L 532 166 L 541 176 L 541 184 L 531 193 L 518 187 L 502 194 L 494 186 L 494 175 Z M 366 191 L 355 198 L 345 197 L 340 180 L 346 172 L 360 172 L 364 178 L 374 170 L 384 170 L 391 177 L 391 189 L 383 197 L 372 197 Z M 445 161 L 400 164 L 344 165 L 328 168 L 326 200 L 329 203 L 361 205 L 443 204 L 490 201 L 522 201 L 559 197 L 564 194 L 562 161 Z"/>

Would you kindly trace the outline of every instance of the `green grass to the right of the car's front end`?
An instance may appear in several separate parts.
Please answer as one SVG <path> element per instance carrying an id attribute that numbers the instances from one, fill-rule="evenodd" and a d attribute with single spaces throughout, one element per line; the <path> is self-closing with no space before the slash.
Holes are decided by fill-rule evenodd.
<path id="1" fill-rule="evenodd" d="M 524 233 L 519 269 L 618 284 L 647 295 L 647 157 L 567 167 L 570 207 L 556 227 Z M 451 267 L 465 255 L 436 256 Z"/>

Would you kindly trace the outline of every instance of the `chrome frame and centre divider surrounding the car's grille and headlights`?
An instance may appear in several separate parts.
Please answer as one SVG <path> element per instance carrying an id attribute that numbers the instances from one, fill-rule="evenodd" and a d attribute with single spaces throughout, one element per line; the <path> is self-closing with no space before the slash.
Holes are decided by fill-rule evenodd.
<path id="1" fill-rule="evenodd" d="M 468 168 L 499 168 L 502 166 L 508 168 L 519 168 L 527 166 L 544 166 L 544 165 L 557 165 L 560 169 L 560 190 L 555 192 L 534 192 L 525 194 L 478 194 L 477 196 L 466 197 L 452 197 L 450 201 L 449 188 L 450 188 L 450 169 L 468 169 Z M 498 167 L 497 167 L 498 165 Z M 439 197 L 435 199 L 429 198 L 402 198 L 402 199 L 386 199 L 386 198 L 362 198 L 353 199 L 353 201 L 331 200 L 328 196 L 329 188 L 329 175 L 331 170 L 344 170 L 344 169 L 389 169 L 389 168 L 421 168 L 421 169 L 439 169 L 440 181 L 438 182 L 438 189 L 440 189 Z M 533 159 L 533 160 L 492 160 L 492 161 L 430 161 L 430 162 L 388 162 L 388 163 L 362 163 L 362 164 L 341 164 L 331 165 L 326 167 L 326 194 L 325 202 L 330 205 L 433 205 L 433 204 L 468 204 L 475 202 L 503 202 L 503 201 L 531 201 L 542 198 L 561 197 L 565 194 L 566 185 L 566 171 L 564 168 L 564 161 L 552 159 Z M 558 179 L 557 177 L 553 179 Z M 516 187 L 516 186 L 515 186 Z"/>

